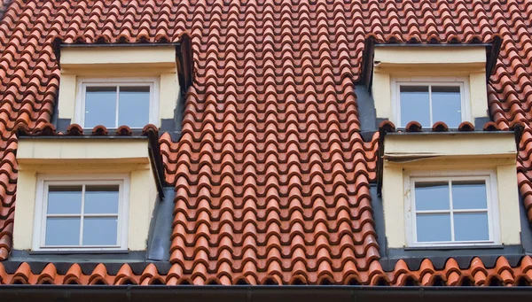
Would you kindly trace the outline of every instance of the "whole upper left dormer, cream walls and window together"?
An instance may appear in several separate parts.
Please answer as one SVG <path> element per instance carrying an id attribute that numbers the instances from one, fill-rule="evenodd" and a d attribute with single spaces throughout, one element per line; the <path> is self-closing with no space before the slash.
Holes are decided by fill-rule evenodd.
<path id="1" fill-rule="evenodd" d="M 55 42 L 60 81 L 54 122 L 59 131 L 153 124 L 178 131 L 184 93 L 192 85 L 192 46 L 179 43 L 61 44 Z"/>

